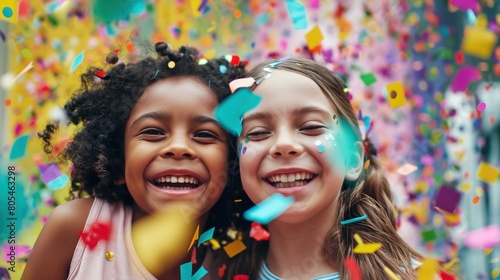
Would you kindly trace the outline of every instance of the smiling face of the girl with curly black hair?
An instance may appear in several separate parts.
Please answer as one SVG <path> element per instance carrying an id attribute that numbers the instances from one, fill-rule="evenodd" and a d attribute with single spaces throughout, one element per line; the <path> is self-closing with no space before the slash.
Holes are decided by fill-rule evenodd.
<path id="1" fill-rule="evenodd" d="M 218 200 L 227 178 L 225 131 L 214 120 L 215 94 L 193 77 L 156 82 L 139 98 L 125 129 L 125 182 L 134 218 L 172 201 L 199 216 Z"/>

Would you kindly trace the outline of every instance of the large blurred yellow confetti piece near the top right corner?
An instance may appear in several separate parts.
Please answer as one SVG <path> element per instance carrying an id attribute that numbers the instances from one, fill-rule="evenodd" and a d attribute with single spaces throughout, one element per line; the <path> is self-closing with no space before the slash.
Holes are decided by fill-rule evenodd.
<path id="1" fill-rule="evenodd" d="M 497 36 L 494 32 L 478 26 L 469 26 L 464 32 L 462 51 L 482 59 L 489 59 L 496 42 Z"/>

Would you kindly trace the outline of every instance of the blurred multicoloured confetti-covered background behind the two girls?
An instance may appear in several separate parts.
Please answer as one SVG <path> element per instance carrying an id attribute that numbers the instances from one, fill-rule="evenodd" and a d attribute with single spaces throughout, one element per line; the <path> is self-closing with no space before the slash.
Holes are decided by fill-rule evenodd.
<path id="1" fill-rule="evenodd" d="M 497 0 L 1 0 L 0 279 L 20 278 L 68 196 L 68 166 L 36 132 L 64 119 L 88 66 L 154 54 L 156 41 L 250 68 L 286 56 L 327 66 L 371 128 L 400 234 L 463 279 L 500 279 L 499 34 Z"/>

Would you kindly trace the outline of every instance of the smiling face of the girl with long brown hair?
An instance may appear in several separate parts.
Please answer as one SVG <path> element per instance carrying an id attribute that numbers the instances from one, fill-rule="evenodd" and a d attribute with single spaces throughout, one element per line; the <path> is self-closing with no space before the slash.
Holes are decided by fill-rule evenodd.
<path id="1" fill-rule="evenodd" d="M 240 155 L 245 192 L 256 204 L 274 193 L 293 196 L 277 218 L 284 222 L 333 213 L 346 167 L 332 104 L 311 79 L 283 70 L 273 71 L 254 93 L 262 101 L 244 115 L 239 139 L 246 148 Z"/>

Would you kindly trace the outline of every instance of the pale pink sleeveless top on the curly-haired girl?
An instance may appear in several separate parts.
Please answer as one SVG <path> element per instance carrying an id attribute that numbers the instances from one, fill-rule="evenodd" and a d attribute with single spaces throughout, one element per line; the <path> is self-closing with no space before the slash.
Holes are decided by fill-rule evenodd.
<path id="1" fill-rule="evenodd" d="M 78 240 L 68 279 L 151 279 L 156 278 L 142 265 L 131 237 L 132 208 L 122 203 L 94 199 L 84 231 L 96 223 L 112 222 L 109 241 L 101 240 L 92 250 Z M 114 255 L 114 258 L 111 256 Z"/>

